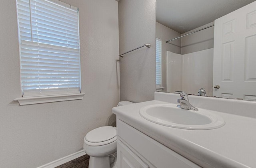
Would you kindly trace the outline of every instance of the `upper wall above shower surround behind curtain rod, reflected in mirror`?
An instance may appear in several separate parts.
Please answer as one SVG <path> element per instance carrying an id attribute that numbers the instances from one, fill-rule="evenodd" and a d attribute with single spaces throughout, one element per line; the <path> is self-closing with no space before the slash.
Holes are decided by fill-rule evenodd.
<path id="1" fill-rule="evenodd" d="M 199 30 L 201 28 L 210 26 L 212 24 L 214 24 L 214 22 L 211 22 L 209 24 L 206 24 L 204 26 L 201 26 L 199 28 L 186 32 L 184 34 L 188 34 L 190 32 Z M 184 34 L 181 34 L 181 35 L 183 36 Z M 214 42 L 214 26 L 181 38 L 181 54 L 187 54 L 187 53 L 192 53 L 196 51 L 202 51 L 204 49 L 213 48 L 213 42 Z"/>

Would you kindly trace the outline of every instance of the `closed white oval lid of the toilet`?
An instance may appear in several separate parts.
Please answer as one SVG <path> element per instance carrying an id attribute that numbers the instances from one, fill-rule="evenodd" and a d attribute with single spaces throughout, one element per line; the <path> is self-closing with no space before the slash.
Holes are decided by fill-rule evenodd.
<path id="1" fill-rule="evenodd" d="M 116 128 L 113 126 L 102 126 L 88 132 L 85 139 L 88 142 L 104 142 L 116 136 Z"/>

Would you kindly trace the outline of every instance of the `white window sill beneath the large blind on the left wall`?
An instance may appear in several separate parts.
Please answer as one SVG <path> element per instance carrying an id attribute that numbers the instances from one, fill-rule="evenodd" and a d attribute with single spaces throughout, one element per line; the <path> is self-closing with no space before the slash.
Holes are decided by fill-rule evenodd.
<path id="1" fill-rule="evenodd" d="M 84 93 L 67 94 L 67 95 L 53 95 L 53 96 L 38 96 L 38 97 L 19 97 L 14 99 L 18 101 L 20 105 L 32 105 L 39 103 L 50 103 L 57 101 L 69 101 L 83 99 Z"/>

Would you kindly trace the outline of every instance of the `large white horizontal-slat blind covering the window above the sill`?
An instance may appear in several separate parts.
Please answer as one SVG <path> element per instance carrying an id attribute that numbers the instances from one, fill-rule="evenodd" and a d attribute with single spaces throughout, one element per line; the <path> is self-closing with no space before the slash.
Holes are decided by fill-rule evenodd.
<path id="1" fill-rule="evenodd" d="M 23 97 L 80 93 L 78 8 L 16 0 Z"/>

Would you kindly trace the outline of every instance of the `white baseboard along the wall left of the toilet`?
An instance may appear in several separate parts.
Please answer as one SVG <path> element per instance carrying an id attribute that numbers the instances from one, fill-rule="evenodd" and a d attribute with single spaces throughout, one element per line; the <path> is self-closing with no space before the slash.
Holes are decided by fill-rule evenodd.
<path id="1" fill-rule="evenodd" d="M 74 159 L 79 158 L 79 157 L 84 156 L 84 155 L 86 155 L 84 150 L 80 150 L 76 153 L 70 154 L 70 155 L 65 156 L 63 158 L 60 158 L 58 160 L 54 160 L 53 162 L 47 163 L 47 164 L 45 164 L 43 166 L 40 166 L 38 168 L 55 168 L 57 166 L 60 166 L 64 163 L 66 163 L 66 162 L 69 162 L 71 160 L 74 160 Z"/>

